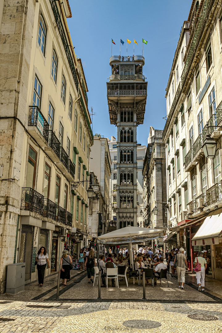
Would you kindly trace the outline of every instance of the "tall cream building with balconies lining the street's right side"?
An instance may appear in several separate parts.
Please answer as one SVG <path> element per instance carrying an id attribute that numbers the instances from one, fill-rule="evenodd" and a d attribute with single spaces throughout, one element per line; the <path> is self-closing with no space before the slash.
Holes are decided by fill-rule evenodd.
<path id="1" fill-rule="evenodd" d="M 170 247 L 182 245 L 187 249 L 191 269 L 198 250 L 206 250 L 207 274 L 217 279 L 222 279 L 222 230 L 212 236 L 212 224 L 205 224 L 209 216 L 219 216 L 222 207 L 218 127 L 222 120 L 221 22 L 221 1 L 192 2 L 166 88 L 167 121 L 163 131 L 169 202 L 165 241 Z M 217 143 L 213 159 L 205 158 L 202 149 L 207 135 Z M 219 223 L 215 225 L 222 229 Z M 205 231 L 198 236 L 204 226 Z"/>

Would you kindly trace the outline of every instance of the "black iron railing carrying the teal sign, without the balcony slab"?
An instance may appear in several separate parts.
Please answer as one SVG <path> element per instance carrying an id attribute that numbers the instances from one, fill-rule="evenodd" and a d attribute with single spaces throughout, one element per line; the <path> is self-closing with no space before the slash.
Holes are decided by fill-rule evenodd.
<path id="1" fill-rule="evenodd" d="M 37 106 L 29 106 L 29 126 L 36 126 L 44 139 L 49 139 L 49 124 Z"/>

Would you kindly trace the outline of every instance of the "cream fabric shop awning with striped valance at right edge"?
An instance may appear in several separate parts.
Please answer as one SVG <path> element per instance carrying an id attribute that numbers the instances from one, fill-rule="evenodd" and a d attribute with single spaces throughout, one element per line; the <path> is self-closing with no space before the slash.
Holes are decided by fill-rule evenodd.
<path id="1" fill-rule="evenodd" d="M 192 245 L 213 245 L 219 244 L 219 237 L 222 235 L 222 213 L 207 216 L 192 238 Z"/>

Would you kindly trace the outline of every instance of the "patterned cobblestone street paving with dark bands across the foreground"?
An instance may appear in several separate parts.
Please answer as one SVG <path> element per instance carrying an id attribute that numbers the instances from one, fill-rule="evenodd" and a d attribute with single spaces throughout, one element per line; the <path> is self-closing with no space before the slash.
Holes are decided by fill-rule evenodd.
<path id="1" fill-rule="evenodd" d="M 206 292 L 198 292 L 192 276 L 186 276 L 184 290 L 176 278 L 169 277 L 169 287 L 119 282 L 119 289 L 101 289 L 88 284 L 86 272 L 71 271 L 67 287 L 60 287 L 56 299 L 57 274 L 45 278 L 44 287 L 37 282 L 26 285 L 16 295 L 0 296 L 0 333 L 11 332 L 222 332 L 222 292 L 213 279 L 208 279 Z M 190 280 L 191 282 L 188 282 Z M 194 280 L 195 281 L 195 280 Z M 216 289 L 217 288 L 217 289 Z M 171 312 L 171 313 L 170 313 Z M 9 321 L 6 321 L 9 320 Z M 173 330 L 172 330 L 173 328 Z"/>

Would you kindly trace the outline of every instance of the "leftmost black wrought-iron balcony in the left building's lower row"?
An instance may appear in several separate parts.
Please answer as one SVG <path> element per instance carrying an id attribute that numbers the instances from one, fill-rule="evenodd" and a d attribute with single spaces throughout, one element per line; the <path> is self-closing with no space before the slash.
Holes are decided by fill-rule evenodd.
<path id="1" fill-rule="evenodd" d="M 21 209 L 43 215 L 44 196 L 31 187 L 22 188 Z"/>

